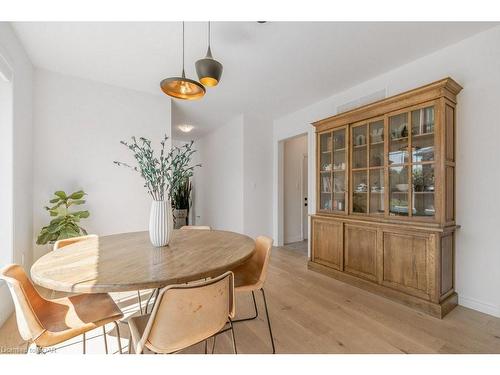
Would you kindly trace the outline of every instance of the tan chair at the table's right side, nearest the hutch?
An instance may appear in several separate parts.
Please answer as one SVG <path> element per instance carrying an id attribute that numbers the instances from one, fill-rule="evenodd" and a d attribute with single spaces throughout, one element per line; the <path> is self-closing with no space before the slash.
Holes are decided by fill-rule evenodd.
<path id="1" fill-rule="evenodd" d="M 273 354 L 275 354 L 276 348 L 274 347 L 273 331 L 271 328 L 271 321 L 269 319 L 269 311 L 267 309 L 266 294 L 264 292 L 264 283 L 266 282 L 267 278 L 267 268 L 269 266 L 269 260 L 271 258 L 272 246 L 273 240 L 271 238 L 265 236 L 257 237 L 257 239 L 255 240 L 255 252 L 252 258 L 233 270 L 236 295 L 238 295 L 238 293 L 251 292 L 255 310 L 254 316 L 244 319 L 235 319 L 233 320 L 233 323 L 253 320 L 259 316 L 257 302 L 255 301 L 255 292 L 260 290 L 262 293 L 262 298 L 264 300 L 267 327 L 269 329 L 269 336 L 271 338 Z"/>

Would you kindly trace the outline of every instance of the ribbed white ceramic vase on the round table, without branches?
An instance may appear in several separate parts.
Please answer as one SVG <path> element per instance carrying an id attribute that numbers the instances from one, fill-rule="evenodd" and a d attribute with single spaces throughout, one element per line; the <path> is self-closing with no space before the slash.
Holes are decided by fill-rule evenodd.
<path id="1" fill-rule="evenodd" d="M 149 215 L 149 239 L 153 246 L 167 246 L 172 238 L 174 218 L 172 206 L 169 201 L 151 202 Z"/>

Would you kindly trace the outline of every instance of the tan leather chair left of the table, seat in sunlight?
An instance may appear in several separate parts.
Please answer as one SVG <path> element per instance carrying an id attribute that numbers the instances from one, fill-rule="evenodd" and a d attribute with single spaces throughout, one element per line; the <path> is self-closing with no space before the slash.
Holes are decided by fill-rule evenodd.
<path id="1" fill-rule="evenodd" d="M 60 344 L 107 323 L 114 323 L 121 353 L 120 329 L 117 321 L 123 317 L 120 308 L 106 293 L 80 294 L 47 300 L 17 264 L 0 271 L 7 282 L 16 309 L 17 326 L 21 337 L 36 345 L 37 352 Z M 108 345 L 104 335 L 106 353 Z M 85 336 L 83 353 L 86 351 Z"/>

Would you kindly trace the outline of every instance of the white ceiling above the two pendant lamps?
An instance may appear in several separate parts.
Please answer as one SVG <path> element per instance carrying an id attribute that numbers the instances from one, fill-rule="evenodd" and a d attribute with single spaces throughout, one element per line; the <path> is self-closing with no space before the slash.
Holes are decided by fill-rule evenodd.
<path id="1" fill-rule="evenodd" d="M 219 86 L 200 101 L 174 102 L 189 137 L 240 113 L 276 118 L 495 26 L 495 23 L 215 22 Z M 181 23 L 15 22 L 37 67 L 163 95 L 181 73 Z M 186 74 L 206 52 L 206 23 L 186 23 Z M 179 137 L 179 131 L 174 136 Z"/>

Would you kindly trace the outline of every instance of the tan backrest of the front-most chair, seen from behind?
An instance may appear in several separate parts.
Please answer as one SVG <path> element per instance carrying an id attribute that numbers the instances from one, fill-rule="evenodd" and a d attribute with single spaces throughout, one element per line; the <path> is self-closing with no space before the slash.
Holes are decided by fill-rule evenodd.
<path id="1" fill-rule="evenodd" d="M 174 353 L 219 332 L 234 317 L 234 275 L 161 290 L 136 353 Z"/>

